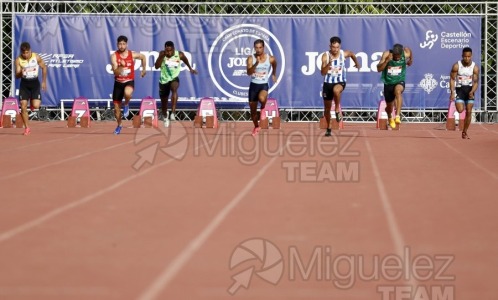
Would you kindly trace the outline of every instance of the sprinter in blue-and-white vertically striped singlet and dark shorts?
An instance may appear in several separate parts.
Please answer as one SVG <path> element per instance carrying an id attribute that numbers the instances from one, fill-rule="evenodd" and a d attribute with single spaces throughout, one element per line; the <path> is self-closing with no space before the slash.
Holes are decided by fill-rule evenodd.
<path id="1" fill-rule="evenodd" d="M 323 80 L 323 116 L 327 121 L 325 136 L 332 135 L 330 125 L 330 110 L 332 109 L 332 100 L 335 103 L 335 118 L 340 122 L 342 116 L 339 108 L 341 105 L 341 93 L 346 88 L 346 58 L 351 58 L 354 66 L 360 69 L 360 64 L 356 60 L 356 55 L 349 50 L 341 50 L 341 39 L 337 36 L 330 38 L 330 50 L 322 55 L 321 73 Z"/>

